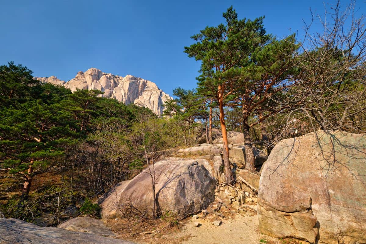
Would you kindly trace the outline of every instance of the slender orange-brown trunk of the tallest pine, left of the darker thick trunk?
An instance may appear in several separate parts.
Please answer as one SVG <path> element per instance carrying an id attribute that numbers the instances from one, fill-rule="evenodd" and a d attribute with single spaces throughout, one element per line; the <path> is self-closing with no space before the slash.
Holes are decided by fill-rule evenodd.
<path id="1" fill-rule="evenodd" d="M 224 167 L 225 167 L 225 176 L 227 182 L 232 182 L 234 177 L 232 176 L 230 161 L 229 161 L 229 145 L 228 145 L 228 135 L 226 132 L 225 125 L 225 115 L 224 115 L 224 101 L 223 101 L 223 93 L 218 93 L 218 101 L 219 101 L 219 109 L 220 109 L 220 126 L 221 132 L 223 133 L 223 158 L 224 158 Z"/>

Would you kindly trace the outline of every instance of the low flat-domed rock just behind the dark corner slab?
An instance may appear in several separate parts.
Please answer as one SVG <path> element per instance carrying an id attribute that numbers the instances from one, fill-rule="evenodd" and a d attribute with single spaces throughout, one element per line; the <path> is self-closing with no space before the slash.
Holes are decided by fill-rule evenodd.
<path id="1" fill-rule="evenodd" d="M 101 220 L 89 217 L 76 217 L 68 219 L 67 221 L 64 221 L 61 224 L 57 225 L 57 228 L 97 234 L 98 236 L 106 236 L 112 238 L 116 237 L 116 235 L 113 234 L 111 228 L 105 226 Z"/>

